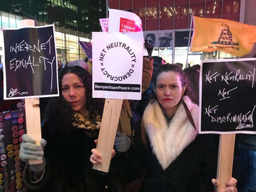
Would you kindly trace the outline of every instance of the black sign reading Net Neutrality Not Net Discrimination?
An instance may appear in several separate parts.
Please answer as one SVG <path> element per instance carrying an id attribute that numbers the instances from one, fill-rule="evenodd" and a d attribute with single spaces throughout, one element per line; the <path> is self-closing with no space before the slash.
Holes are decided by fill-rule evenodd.
<path id="1" fill-rule="evenodd" d="M 255 59 L 202 63 L 199 133 L 256 133 L 255 68 Z"/>

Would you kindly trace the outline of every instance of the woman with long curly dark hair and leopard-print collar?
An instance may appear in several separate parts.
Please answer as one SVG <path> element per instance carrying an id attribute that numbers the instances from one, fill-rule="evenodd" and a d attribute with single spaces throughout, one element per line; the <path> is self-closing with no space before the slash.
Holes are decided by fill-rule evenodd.
<path id="1" fill-rule="evenodd" d="M 103 112 L 103 100 L 92 98 L 90 73 L 80 66 L 64 68 L 59 73 L 59 91 L 60 96 L 51 98 L 46 107 L 41 146 L 29 135 L 22 136 L 21 160 L 43 159 L 41 164 L 27 163 L 26 186 L 30 191 L 112 191 L 111 174 L 100 174 L 90 162 Z"/>

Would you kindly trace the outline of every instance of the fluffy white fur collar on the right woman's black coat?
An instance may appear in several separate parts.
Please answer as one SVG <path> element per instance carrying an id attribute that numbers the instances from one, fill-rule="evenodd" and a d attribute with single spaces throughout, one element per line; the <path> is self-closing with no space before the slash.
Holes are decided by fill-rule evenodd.
<path id="1" fill-rule="evenodd" d="M 150 140 L 153 153 L 164 170 L 198 134 L 199 107 L 187 96 L 184 96 L 183 100 L 191 112 L 197 130 L 188 120 L 181 102 L 169 126 L 157 100 L 152 105 L 149 104 L 144 111 L 143 123 L 146 134 Z"/>

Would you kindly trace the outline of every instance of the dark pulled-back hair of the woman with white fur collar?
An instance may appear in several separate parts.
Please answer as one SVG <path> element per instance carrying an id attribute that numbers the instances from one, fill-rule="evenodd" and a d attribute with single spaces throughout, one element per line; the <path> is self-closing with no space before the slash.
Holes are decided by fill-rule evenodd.
<path id="1" fill-rule="evenodd" d="M 158 78 L 158 76 L 162 73 L 162 72 L 175 72 L 178 73 L 180 75 L 180 80 L 181 80 L 181 86 L 184 87 L 186 85 L 186 75 L 185 72 L 182 70 L 182 68 L 179 65 L 175 65 L 175 64 L 170 64 L 170 63 L 166 63 L 164 65 L 160 65 L 154 74 L 154 86 L 156 87 L 156 80 Z M 187 88 L 184 92 L 184 96 L 187 95 L 188 97 L 190 97 L 191 99 L 194 98 L 194 93 L 191 89 L 190 86 L 186 85 Z M 153 103 L 155 100 L 157 100 L 157 96 L 155 91 L 152 91 L 151 93 L 151 99 L 153 100 L 151 103 Z"/>

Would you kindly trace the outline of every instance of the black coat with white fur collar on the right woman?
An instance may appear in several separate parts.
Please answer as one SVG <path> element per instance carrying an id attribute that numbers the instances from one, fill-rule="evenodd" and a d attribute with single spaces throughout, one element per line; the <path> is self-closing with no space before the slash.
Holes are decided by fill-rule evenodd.
<path id="1" fill-rule="evenodd" d="M 198 106 L 186 102 L 197 130 L 189 122 L 182 104 L 168 119 L 156 100 L 148 105 L 143 127 L 135 131 L 135 143 L 146 146 L 145 192 L 207 192 L 217 174 L 217 150 L 212 134 L 198 134 Z M 142 135 L 140 135 L 142 133 Z M 142 139 L 142 140 L 140 140 Z"/>

